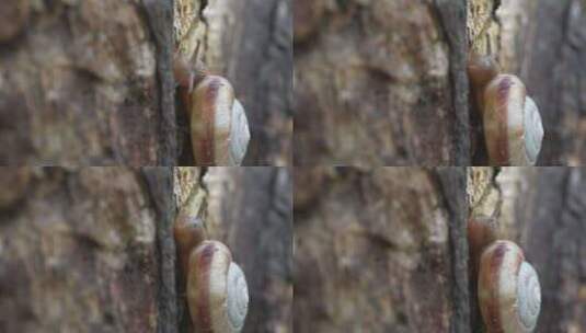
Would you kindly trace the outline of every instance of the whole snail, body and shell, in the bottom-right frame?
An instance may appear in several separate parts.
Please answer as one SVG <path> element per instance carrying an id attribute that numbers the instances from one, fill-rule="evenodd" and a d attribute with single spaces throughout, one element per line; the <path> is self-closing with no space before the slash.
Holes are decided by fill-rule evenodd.
<path id="1" fill-rule="evenodd" d="M 537 272 L 517 244 L 496 238 L 492 218 L 469 220 L 472 286 L 486 332 L 532 332 L 541 308 Z"/>

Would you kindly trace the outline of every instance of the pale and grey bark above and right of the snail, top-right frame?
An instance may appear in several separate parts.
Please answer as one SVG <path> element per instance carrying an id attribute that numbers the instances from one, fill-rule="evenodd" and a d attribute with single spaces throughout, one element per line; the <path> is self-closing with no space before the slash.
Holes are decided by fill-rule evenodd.
<path id="1" fill-rule="evenodd" d="M 586 164 L 586 4 L 583 0 L 473 0 L 472 49 L 493 55 L 536 101 L 545 136 L 539 165 Z M 482 125 L 471 107 L 474 164 L 486 164 Z"/>

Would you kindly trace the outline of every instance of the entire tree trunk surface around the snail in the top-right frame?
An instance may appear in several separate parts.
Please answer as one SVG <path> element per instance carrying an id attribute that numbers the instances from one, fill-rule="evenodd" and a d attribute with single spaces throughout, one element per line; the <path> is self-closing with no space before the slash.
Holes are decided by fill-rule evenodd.
<path id="1" fill-rule="evenodd" d="M 538 164 L 584 164 L 584 18 L 581 0 L 297 1 L 296 165 L 486 165 L 469 49 L 526 83 Z"/>

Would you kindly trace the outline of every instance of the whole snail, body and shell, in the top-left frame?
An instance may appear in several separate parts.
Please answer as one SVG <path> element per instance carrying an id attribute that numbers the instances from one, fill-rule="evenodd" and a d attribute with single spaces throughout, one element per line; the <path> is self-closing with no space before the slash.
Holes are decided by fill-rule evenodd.
<path id="1" fill-rule="evenodd" d="M 202 62 L 193 68 L 174 58 L 179 94 L 189 117 L 194 159 L 197 165 L 240 165 L 250 141 L 244 107 L 234 97 L 230 82 L 207 72 Z"/>

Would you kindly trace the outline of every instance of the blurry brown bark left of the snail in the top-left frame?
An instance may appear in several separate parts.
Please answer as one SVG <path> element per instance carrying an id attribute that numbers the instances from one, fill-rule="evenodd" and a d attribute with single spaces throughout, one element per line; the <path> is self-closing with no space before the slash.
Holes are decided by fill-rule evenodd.
<path id="1" fill-rule="evenodd" d="M 171 164 L 171 3 L 2 1 L 0 163 Z"/>

